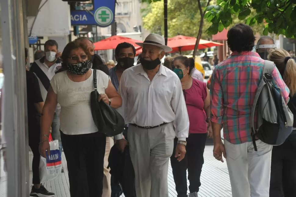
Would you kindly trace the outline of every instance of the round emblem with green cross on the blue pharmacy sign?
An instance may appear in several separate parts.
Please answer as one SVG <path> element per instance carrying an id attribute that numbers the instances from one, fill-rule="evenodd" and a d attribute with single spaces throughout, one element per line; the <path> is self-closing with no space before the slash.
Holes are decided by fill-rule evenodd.
<path id="1" fill-rule="evenodd" d="M 94 14 L 95 20 L 99 25 L 108 26 L 113 21 L 113 12 L 108 7 L 99 7 Z"/>

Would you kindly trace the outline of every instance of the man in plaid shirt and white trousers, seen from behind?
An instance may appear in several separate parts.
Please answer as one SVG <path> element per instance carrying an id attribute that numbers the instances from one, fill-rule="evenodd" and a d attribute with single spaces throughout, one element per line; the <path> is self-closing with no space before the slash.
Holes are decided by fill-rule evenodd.
<path id="1" fill-rule="evenodd" d="M 272 146 L 251 138 L 251 108 L 262 77 L 264 60 L 254 47 L 254 33 L 236 24 L 227 34 L 230 57 L 218 64 L 211 77 L 211 116 L 214 157 L 226 158 L 233 197 L 269 197 Z M 289 89 L 274 67 L 273 83 L 286 102 Z M 256 117 L 255 117 L 256 120 Z M 223 124 L 224 144 L 220 129 Z"/>

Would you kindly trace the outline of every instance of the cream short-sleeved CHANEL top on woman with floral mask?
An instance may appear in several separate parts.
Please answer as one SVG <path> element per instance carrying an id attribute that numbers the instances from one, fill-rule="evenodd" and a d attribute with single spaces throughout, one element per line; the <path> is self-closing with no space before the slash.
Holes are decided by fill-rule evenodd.
<path id="1" fill-rule="evenodd" d="M 79 135 L 98 131 L 90 108 L 90 93 L 94 90 L 93 69 L 91 71 L 92 75 L 83 82 L 71 81 L 67 71 L 57 73 L 50 81 L 61 105 L 60 130 L 64 134 Z M 97 80 L 99 94 L 105 93 L 108 75 L 97 70 Z"/>

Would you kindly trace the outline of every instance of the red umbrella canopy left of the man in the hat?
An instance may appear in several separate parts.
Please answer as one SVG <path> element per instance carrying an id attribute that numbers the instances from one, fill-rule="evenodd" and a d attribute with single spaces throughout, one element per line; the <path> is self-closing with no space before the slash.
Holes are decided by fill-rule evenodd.
<path id="1" fill-rule="evenodd" d="M 98 50 L 108 50 L 108 49 L 116 49 L 117 45 L 121 42 L 128 42 L 135 46 L 136 49 L 140 48 L 135 42 L 143 42 L 139 40 L 134 40 L 132 38 L 122 37 L 118 35 L 111 36 L 109 38 L 103 39 L 99 42 L 95 42 L 95 51 Z"/>

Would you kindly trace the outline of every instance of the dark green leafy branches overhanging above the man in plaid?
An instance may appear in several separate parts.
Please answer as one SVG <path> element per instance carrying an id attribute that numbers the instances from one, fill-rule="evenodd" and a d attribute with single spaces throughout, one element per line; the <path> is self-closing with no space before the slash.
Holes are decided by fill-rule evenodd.
<path id="1" fill-rule="evenodd" d="M 235 24 L 234 18 L 244 20 L 250 26 L 257 24 L 258 32 L 283 34 L 295 38 L 296 0 L 217 0 L 217 5 L 206 8 L 205 19 L 211 22 L 208 34 L 217 34 Z M 264 22 L 267 24 L 262 28 Z M 260 31 L 261 30 L 261 31 Z"/>

